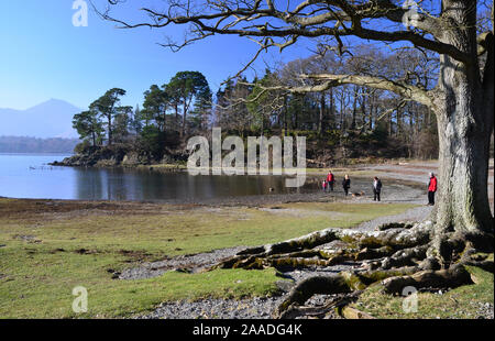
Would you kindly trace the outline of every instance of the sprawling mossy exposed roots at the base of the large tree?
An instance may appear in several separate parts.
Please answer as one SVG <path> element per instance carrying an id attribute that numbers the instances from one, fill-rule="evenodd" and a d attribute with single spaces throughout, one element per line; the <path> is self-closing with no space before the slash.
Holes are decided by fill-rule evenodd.
<path id="1" fill-rule="evenodd" d="M 430 221 L 414 226 L 392 223 L 376 231 L 327 229 L 280 243 L 246 249 L 215 267 L 294 270 L 361 263 L 361 267 L 354 271 L 300 282 L 274 311 L 276 318 L 324 317 L 377 282 L 385 293 L 397 295 L 407 286 L 416 289 L 454 288 L 472 284 L 464 265 L 480 266 L 493 273 L 493 261 L 476 253 L 480 248 L 493 252 L 493 234 L 437 233 L 432 239 L 432 232 L 433 223 Z M 334 243 L 340 246 L 336 249 Z M 317 294 L 340 294 L 340 298 L 322 307 L 304 307 Z M 346 316 L 370 318 L 349 309 Z"/>

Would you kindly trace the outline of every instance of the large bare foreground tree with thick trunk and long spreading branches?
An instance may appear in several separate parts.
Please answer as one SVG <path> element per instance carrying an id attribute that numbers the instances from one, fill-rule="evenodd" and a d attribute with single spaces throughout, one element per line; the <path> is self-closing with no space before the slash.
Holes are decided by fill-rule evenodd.
<path id="1" fill-rule="evenodd" d="M 110 1 L 113 6 L 118 2 Z M 103 16 L 124 28 L 187 25 L 186 40 L 169 41 L 166 45 L 172 48 L 182 48 L 212 35 L 245 36 L 258 44 L 260 50 L 254 58 L 266 48 L 284 50 L 301 37 L 315 41 L 323 52 L 338 54 L 352 54 L 352 45 L 360 42 L 372 42 L 377 47 L 416 48 L 436 54 L 440 65 L 436 77 L 438 81 L 431 87 L 418 81 L 414 70 L 407 73 L 407 77 L 380 73 L 319 73 L 299 75 L 305 80 L 299 86 L 280 85 L 267 87 L 266 91 L 321 92 L 353 84 L 395 92 L 407 101 L 426 106 L 435 113 L 439 132 L 440 189 L 432 217 L 435 224 L 427 231 L 427 252 L 424 252 L 424 246 L 420 251 L 414 248 L 400 251 L 403 256 L 393 255 L 382 268 L 386 268 L 386 264 L 389 267 L 391 262 L 407 264 L 404 263 L 406 255 L 409 260 L 426 257 L 419 268 L 450 267 L 451 273 L 432 273 L 427 276 L 429 279 L 413 276 L 417 282 L 409 279 L 415 285 L 420 285 L 421 280 L 431 285 L 431 278 L 443 276 L 453 286 L 454 277 L 459 279 L 463 276 L 455 267 L 459 257 L 465 264 L 472 261 L 465 258 L 472 250 L 493 252 L 493 216 L 487 197 L 488 145 L 494 125 L 493 3 L 475 0 L 419 2 L 420 6 L 415 6 L 414 1 L 392 0 L 170 0 L 164 9 L 143 9 L 150 18 L 147 22 L 131 23 L 125 19 L 112 18 L 111 12 L 103 13 Z M 408 233 L 409 243 L 405 244 L 410 246 L 417 245 L 410 241 L 418 242 L 425 231 L 418 228 Z M 326 238 L 314 235 L 309 241 L 328 241 L 341 234 L 330 231 L 324 234 Z M 378 235 L 388 244 L 394 244 L 398 238 L 387 239 L 384 232 L 374 237 L 376 243 Z M 293 249 L 287 244 L 255 251 L 270 260 L 274 250 L 295 251 L 294 245 L 297 243 L 292 243 Z M 311 242 L 306 240 L 306 244 L 301 243 L 299 248 L 301 245 L 306 248 Z M 244 265 L 255 264 L 243 262 Z M 409 279 L 396 278 L 388 288 L 397 283 L 409 283 Z M 306 292 L 316 287 L 312 282 L 304 285 Z M 305 292 L 302 286 L 295 292 L 294 300 L 301 300 L 297 298 L 297 293 Z"/>

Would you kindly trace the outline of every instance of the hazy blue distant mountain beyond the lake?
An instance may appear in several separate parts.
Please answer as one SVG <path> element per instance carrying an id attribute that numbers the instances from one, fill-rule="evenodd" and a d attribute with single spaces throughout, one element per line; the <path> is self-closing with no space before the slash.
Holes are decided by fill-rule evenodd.
<path id="1" fill-rule="evenodd" d="M 73 117 L 80 111 L 58 99 L 51 99 L 26 110 L 0 108 L 0 136 L 78 138 L 73 129 Z"/>

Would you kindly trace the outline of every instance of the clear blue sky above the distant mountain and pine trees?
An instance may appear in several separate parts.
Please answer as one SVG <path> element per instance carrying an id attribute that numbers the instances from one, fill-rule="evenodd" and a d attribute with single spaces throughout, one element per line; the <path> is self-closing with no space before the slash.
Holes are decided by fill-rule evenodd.
<path id="1" fill-rule="evenodd" d="M 106 0 L 95 0 L 105 3 Z M 139 19 L 134 1 L 117 14 Z M 146 2 L 161 2 L 147 0 Z M 114 87 L 128 91 L 127 106 L 141 105 L 152 85 L 167 82 L 177 72 L 199 70 L 216 92 L 256 51 L 245 38 L 218 36 L 173 53 L 160 46 L 165 36 L 182 37 L 184 26 L 151 30 L 117 29 L 89 10 L 88 25 L 74 26 L 74 0 L 0 1 L 0 108 L 24 110 L 52 98 L 80 109 Z M 88 0 L 89 3 L 89 0 Z M 134 8 L 132 7 L 134 6 Z M 283 55 L 263 54 L 264 63 L 310 55 L 299 43 Z"/>

